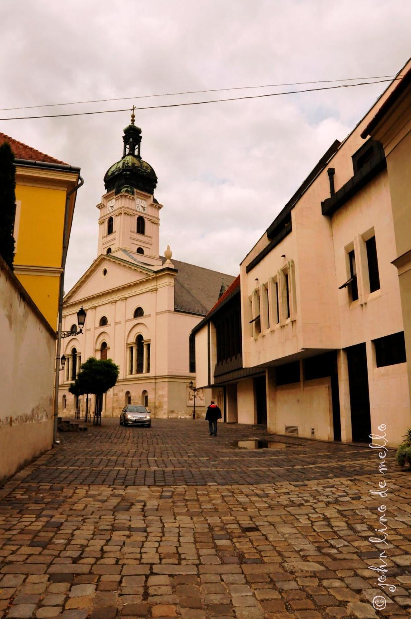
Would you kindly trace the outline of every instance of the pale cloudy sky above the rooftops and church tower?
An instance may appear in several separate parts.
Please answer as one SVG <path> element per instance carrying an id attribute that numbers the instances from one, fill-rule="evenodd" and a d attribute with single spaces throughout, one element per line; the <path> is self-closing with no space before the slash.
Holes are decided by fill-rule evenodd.
<path id="1" fill-rule="evenodd" d="M 137 98 L 389 76 L 410 56 L 403 0 L 2 0 L 0 18 L 1 108 L 136 97 L 0 118 L 297 90 L 305 86 Z M 164 205 L 161 251 L 170 245 L 175 259 L 238 274 L 321 155 L 385 87 L 137 111 Z M 1 132 L 81 167 L 66 292 L 96 258 L 95 204 L 128 123 L 127 111 L 0 121 Z"/>

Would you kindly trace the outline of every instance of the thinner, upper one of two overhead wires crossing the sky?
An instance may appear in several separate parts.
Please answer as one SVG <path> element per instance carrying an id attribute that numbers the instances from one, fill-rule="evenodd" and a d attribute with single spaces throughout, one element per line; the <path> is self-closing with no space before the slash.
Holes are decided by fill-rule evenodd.
<path id="1" fill-rule="evenodd" d="M 1 112 L 11 111 L 11 110 L 35 110 L 37 108 L 53 108 L 64 105 L 80 105 L 80 103 L 107 103 L 111 101 L 128 101 L 133 99 L 149 99 L 154 97 L 176 97 L 178 95 L 197 95 L 203 94 L 206 92 L 226 92 L 227 90 L 254 90 L 259 88 L 277 88 L 280 86 L 302 86 L 305 84 L 332 84 L 334 82 L 355 82 L 355 80 L 376 80 L 376 79 L 392 79 L 396 76 L 373 76 L 373 77 L 346 77 L 343 79 L 322 79 L 316 80 L 313 82 L 288 82 L 284 84 L 263 84 L 259 86 L 236 86 L 232 88 L 214 88 L 209 90 L 186 90 L 184 92 L 163 92 L 158 95 L 136 95 L 136 97 L 116 97 L 111 99 L 90 99 L 85 101 L 71 101 L 66 103 L 43 103 L 42 105 L 22 105 L 14 108 L 0 108 Z M 373 83 L 373 82 L 371 82 Z"/>

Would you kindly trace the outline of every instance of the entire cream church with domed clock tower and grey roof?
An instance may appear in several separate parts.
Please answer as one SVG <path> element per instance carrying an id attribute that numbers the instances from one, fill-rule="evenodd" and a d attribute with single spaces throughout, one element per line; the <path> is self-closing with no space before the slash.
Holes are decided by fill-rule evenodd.
<path id="1" fill-rule="evenodd" d="M 196 374 L 190 333 L 234 278 L 172 260 L 170 248 L 160 256 L 157 176 L 141 158 L 134 115 L 123 141 L 123 157 L 106 172 L 106 193 L 97 204 L 97 259 L 64 297 L 64 331 L 77 330 L 80 306 L 87 318 L 82 334 L 64 340 L 59 413 L 74 411 L 69 385 L 80 364 L 95 357 L 119 365 L 118 381 L 103 399 L 103 417 L 118 416 L 126 404 L 144 404 L 154 417 L 191 417 L 189 383 L 195 383 Z M 196 394 L 200 416 L 209 396 Z M 89 406 L 93 412 L 94 396 Z"/>

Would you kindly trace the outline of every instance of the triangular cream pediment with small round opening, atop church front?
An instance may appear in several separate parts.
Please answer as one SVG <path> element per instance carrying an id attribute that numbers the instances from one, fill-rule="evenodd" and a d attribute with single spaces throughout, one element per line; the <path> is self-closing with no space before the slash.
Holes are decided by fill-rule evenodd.
<path id="1" fill-rule="evenodd" d="M 116 256 L 99 256 L 64 297 L 64 304 L 74 303 L 116 288 L 152 277 L 152 269 L 132 264 Z"/>

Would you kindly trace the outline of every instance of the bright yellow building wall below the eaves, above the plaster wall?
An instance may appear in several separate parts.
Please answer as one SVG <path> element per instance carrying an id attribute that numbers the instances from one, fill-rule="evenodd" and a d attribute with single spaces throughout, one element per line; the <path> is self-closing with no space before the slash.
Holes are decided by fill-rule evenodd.
<path id="1" fill-rule="evenodd" d="M 66 189 L 19 184 L 17 177 L 15 197 L 15 275 L 55 329 Z"/>

